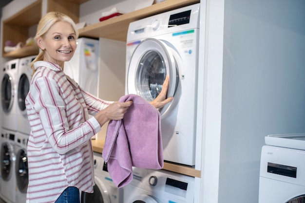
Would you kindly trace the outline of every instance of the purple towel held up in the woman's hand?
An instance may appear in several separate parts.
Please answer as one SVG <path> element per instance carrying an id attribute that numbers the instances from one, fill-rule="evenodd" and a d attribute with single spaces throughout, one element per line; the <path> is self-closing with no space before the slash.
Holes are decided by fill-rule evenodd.
<path id="1" fill-rule="evenodd" d="M 122 96 L 119 102 L 133 100 L 122 120 L 111 120 L 106 132 L 102 157 L 117 187 L 133 179 L 132 166 L 163 168 L 160 112 L 135 94 Z"/>

